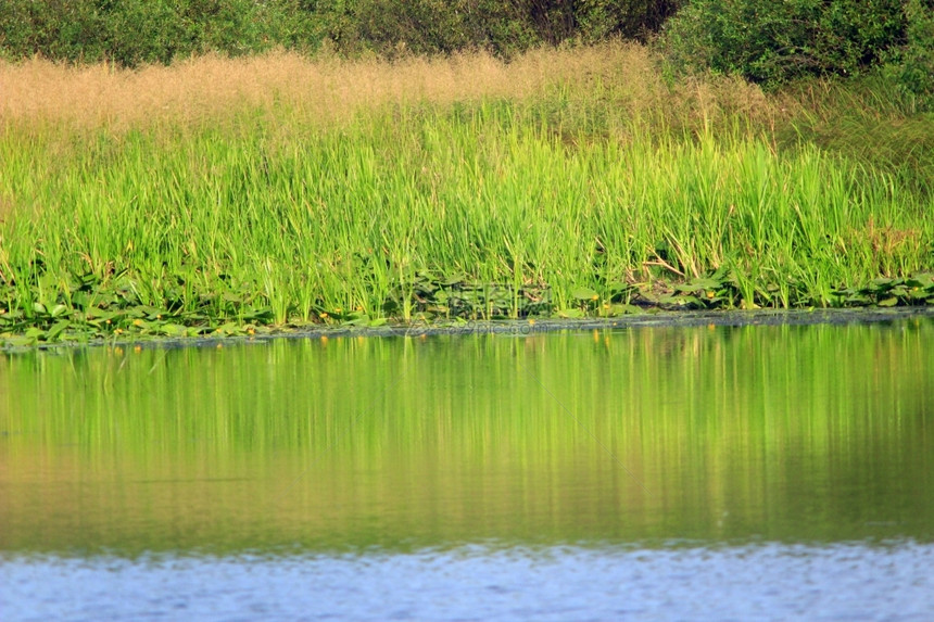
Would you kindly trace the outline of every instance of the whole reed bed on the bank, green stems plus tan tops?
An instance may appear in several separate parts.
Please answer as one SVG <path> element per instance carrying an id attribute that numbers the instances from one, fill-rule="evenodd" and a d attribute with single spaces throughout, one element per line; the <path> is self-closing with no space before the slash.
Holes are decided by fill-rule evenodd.
<path id="1" fill-rule="evenodd" d="M 934 300 L 931 193 L 636 46 L 0 90 L 8 338 Z"/>

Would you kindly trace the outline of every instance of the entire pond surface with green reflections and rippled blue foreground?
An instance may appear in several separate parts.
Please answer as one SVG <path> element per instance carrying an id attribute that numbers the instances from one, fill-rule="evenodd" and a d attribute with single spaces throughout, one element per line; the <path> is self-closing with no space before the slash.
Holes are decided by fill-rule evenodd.
<path id="1" fill-rule="evenodd" d="M 934 319 L 0 354 L 0 619 L 930 620 Z"/>

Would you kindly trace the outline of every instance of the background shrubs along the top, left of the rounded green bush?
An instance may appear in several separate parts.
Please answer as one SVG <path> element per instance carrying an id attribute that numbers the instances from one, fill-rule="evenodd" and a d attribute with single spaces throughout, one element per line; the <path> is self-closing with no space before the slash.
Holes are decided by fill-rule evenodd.
<path id="1" fill-rule="evenodd" d="M 510 55 L 657 30 L 682 0 L 8 0 L 0 55 L 124 66 L 275 46 L 386 56 L 485 49 Z"/>

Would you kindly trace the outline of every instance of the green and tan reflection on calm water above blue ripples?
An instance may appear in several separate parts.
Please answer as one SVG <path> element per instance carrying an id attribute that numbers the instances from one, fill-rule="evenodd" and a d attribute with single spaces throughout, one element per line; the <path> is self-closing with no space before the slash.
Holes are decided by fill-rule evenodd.
<path id="1" fill-rule="evenodd" d="M 934 321 L 0 357 L 0 551 L 934 535 Z"/>

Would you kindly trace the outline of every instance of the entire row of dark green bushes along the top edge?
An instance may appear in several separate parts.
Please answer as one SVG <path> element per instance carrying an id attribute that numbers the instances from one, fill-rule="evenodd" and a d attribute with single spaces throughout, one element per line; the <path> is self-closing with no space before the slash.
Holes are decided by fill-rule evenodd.
<path id="1" fill-rule="evenodd" d="M 905 89 L 934 92 L 931 0 L 8 0 L 0 55 L 124 66 L 273 47 L 343 54 L 508 56 L 539 45 L 645 39 L 667 27 L 681 65 L 766 85 L 891 63 Z"/>

